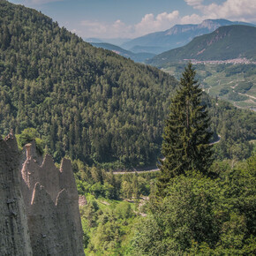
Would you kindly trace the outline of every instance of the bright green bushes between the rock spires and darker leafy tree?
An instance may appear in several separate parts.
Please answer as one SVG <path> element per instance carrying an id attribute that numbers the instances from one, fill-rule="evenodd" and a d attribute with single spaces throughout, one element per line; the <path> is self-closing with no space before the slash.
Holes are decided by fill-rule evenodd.
<path id="1" fill-rule="evenodd" d="M 90 199 L 80 207 L 87 255 L 124 255 L 136 219 L 131 203 Z"/>

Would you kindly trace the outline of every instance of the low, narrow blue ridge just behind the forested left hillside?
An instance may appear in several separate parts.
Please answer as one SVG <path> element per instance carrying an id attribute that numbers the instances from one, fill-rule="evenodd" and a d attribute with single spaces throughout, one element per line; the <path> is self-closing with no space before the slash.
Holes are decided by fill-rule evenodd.
<path id="1" fill-rule="evenodd" d="M 130 50 L 126 50 L 117 45 L 106 43 L 106 42 L 100 42 L 100 43 L 92 42 L 91 44 L 97 48 L 109 49 L 109 50 L 117 53 L 118 55 L 131 58 L 135 62 L 140 62 L 140 63 L 143 63 L 147 59 L 150 59 L 155 56 L 155 54 L 148 53 L 148 52 L 134 53 Z"/>

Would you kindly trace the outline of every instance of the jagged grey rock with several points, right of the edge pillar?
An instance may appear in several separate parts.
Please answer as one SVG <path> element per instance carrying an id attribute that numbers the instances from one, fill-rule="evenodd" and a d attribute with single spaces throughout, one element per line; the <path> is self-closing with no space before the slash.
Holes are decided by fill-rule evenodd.
<path id="1" fill-rule="evenodd" d="M 26 160 L 20 170 L 33 254 L 85 255 L 79 194 L 71 161 L 63 159 L 57 169 L 46 154 L 40 164 L 35 160 L 33 147 L 34 143 L 26 144 Z"/>

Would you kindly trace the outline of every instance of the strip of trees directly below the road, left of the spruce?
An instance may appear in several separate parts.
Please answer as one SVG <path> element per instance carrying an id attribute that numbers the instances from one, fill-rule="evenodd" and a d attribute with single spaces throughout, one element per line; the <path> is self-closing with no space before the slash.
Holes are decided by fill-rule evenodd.
<path id="1" fill-rule="evenodd" d="M 141 195 L 148 196 L 150 182 L 157 176 L 156 173 L 113 175 L 104 169 L 89 167 L 79 160 L 73 161 L 72 167 L 80 195 L 91 193 L 95 198 L 109 200 L 139 200 Z"/>

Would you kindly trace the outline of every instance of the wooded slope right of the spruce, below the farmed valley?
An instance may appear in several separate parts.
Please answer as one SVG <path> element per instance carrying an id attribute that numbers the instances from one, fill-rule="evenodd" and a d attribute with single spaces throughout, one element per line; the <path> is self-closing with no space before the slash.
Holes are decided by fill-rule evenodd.
<path id="1" fill-rule="evenodd" d="M 207 102 L 207 99 L 203 99 Z M 249 141 L 256 136 L 256 113 L 251 110 L 236 109 L 228 102 L 207 102 L 211 117 L 211 130 L 221 135 L 219 143 L 213 147 L 214 158 L 243 160 L 251 156 Z M 216 139 L 215 139 L 216 140 Z"/>

